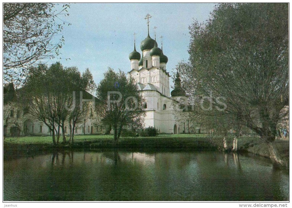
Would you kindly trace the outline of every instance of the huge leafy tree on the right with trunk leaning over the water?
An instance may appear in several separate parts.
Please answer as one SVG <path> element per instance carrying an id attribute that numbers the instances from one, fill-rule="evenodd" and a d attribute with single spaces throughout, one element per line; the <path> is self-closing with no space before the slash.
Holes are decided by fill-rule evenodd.
<path id="1" fill-rule="evenodd" d="M 179 66 L 187 94 L 211 97 L 209 116 L 225 103 L 220 114 L 257 133 L 284 165 L 273 141 L 288 105 L 288 4 L 219 4 L 190 35 L 189 62 Z"/>

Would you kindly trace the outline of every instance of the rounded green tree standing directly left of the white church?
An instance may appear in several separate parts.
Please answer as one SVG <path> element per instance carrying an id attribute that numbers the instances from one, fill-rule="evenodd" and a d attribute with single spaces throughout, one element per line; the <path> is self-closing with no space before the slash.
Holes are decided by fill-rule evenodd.
<path id="1" fill-rule="evenodd" d="M 104 125 L 114 130 L 114 144 L 117 144 L 124 126 L 131 126 L 137 117 L 144 115 L 142 96 L 132 78 L 127 79 L 121 70 L 112 68 L 97 87 L 95 112 Z"/>

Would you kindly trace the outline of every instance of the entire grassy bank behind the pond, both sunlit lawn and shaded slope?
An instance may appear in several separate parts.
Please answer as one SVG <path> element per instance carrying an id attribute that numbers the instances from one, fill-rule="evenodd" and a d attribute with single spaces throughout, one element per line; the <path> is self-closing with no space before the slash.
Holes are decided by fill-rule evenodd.
<path id="1" fill-rule="evenodd" d="M 179 134 L 159 135 L 157 137 L 125 137 L 120 138 L 116 146 L 113 144 L 112 135 L 76 135 L 74 144 L 60 143 L 53 147 L 50 136 L 31 136 L 20 138 L 6 138 L 4 141 L 4 158 L 24 157 L 34 154 L 43 154 L 58 149 L 126 149 L 133 151 L 193 151 L 193 150 L 217 150 L 222 144 L 221 140 L 209 137 L 206 134 Z M 216 141 L 217 140 L 217 141 Z M 60 138 L 60 142 L 61 142 Z M 215 142 L 216 141 L 216 142 Z M 232 138 L 228 138 L 229 147 L 232 146 Z M 289 141 L 276 140 L 275 147 L 280 156 L 289 164 Z M 249 152 L 266 158 L 270 158 L 267 147 L 258 137 L 243 136 L 238 139 L 238 151 Z"/>

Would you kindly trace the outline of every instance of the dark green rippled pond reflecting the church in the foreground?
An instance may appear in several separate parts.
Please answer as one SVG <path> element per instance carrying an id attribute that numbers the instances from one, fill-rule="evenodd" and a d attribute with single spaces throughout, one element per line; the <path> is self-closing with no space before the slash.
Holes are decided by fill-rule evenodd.
<path id="1" fill-rule="evenodd" d="M 288 200 L 288 171 L 216 151 L 63 151 L 4 160 L 4 201 Z"/>

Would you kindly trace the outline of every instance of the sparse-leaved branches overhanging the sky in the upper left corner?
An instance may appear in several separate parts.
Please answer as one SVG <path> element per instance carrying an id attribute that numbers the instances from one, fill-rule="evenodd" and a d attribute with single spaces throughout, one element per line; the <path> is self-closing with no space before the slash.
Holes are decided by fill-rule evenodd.
<path id="1" fill-rule="evenodd" d="M 68 16 L 68 8 L 56 3 L 3 4 L 4 81 L 19 84 L 36 61 L 60 54 L 64 37 L 56 41 L 56 35 L 65 24 L 60 15 Z"/>

